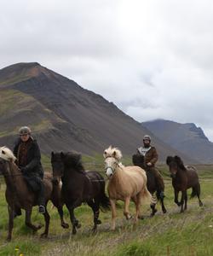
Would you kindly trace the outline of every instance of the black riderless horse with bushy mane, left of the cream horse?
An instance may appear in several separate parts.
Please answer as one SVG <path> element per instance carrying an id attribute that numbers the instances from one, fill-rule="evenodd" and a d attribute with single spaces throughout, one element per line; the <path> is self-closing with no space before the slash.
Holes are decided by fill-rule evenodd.
<path id="1" fill-rule="evenodd" d="M 108 210 L 110 203 L 105 193 L 105 180 L 99 172 L 85 171 L 81 154 L 75 152 L 51 153 L 51 164 L 53 176 L 62 181 L 62 195 L 66 207 L 70 213 L 72 223 L 72 234 L 77 233 L 76 228 L 80 228 L 78 219 L 75 218 L 74 209 L 80 207 L 83 202 L 92 208 L 94 213 L 93 232 L 97 230 L 97 225 L 101 224 L 99 219 L 100 208 L 102 211 Z"/>

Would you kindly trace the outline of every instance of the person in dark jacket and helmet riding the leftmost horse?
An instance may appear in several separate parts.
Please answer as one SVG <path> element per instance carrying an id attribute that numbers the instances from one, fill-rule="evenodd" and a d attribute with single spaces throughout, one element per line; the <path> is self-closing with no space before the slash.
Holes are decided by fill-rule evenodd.
<path id="1" fill-rule="evenodd" d="M 43 186 L 43 167 L 41 153 L 37 141 L 31 137 L 31 129 L 27 126 L 20 128 L 20 138 L 14 146 L 14 155 L 17 158 L 17 166 L 26 179 L 26 183 L 37 194 L 38 211 L 45 212 L 45 198 Z M 17 212 L 20 215 L 20 209 Z"/>

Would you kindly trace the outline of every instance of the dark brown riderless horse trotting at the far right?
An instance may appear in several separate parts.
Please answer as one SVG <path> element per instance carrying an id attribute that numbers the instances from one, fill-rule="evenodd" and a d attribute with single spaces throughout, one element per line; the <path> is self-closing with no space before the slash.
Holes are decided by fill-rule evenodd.
<path id="1" fill-rule="evenodd" d="M 168 156 L 166 164 L 170 168 L 170 177 L 172 177 L 172 186 L 175 193 L 175 203 L 181 207 L 181 212 L 187 210 L 187 189 L 192 188 L 191 198 L 196 196 L 199 199 L 199 207 L 203 206 L 200 200 L 200 184 L 197 170 L 194 166 L 184 166 L 179 156 Z M 178 194 L 181 191 L 181 201 L 178 201 Z M 185 205 L 184 205 L 185 202 Z M 184 205 L 184 208 L 183 208 Z"/>

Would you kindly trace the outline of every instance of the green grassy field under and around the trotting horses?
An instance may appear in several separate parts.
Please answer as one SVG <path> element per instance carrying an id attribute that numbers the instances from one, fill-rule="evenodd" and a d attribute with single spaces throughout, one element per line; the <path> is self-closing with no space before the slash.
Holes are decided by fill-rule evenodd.
<path id="1" fill-rule="evenodd" d="M 49 169 L 49 160 L 43 157 L 44 166 Z M 84 157 L 83 161 L 89 169 L 102 169 L 101 156 Z M 130 159 L 125 159 L 127 165 Z M 187 212 L 179 213 L 174 204 L 173 189 L 166 166 L 158 166 L 164 174 L 165 207 L 163 214 L 158 205 L 157 215 L 149 217 L 149 207 L 143 206 L 144 219 L 137 224 L 133 220 L 125 220 L 123 202 L 118 205 L 117 228 L 110 230 L 111 212 L 101 212 L 102 224 L 97 234 L 91 233 L 92 212 L 83 205 L 75 211 L 81 221 L 82 228 L 76 236 L 70 230 L 60 227 L 60 219 L 55 208 L 49 203 L 50 227 L 49 238 L 41 239 L 39 235 L 26 228 L 24 217 L 15 218 L 14 232 L 11 242 L 6 242 L 8 213 L 4 199 L 5 184 L 0 181 L 0 255 L 213 255 L 213 166 L 198 166 L 201 182 L 201 199 L 204 207 L 200 208 L 196 199 L 188 201 Z M 188 191 L 188 194 L 190 191 Z M 69 216 L 65 210 L 68 223 Z M 131 205 L 131 212 L 134 212 Z M 43 216 L 32 214 L 33 223 L 43 224 Z"/>

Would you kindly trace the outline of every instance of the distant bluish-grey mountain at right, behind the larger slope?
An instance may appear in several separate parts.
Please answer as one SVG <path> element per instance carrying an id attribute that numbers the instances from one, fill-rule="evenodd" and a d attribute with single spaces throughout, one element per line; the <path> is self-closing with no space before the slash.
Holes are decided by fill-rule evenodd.
<path id="1" fill-rule="evenodd" d="M 204 164 L 213 163 L 213 143 L 204 131 L 193 123 L 180 124 L 170 120 L 157 119 L 143 122 L 155 136 L 172 148 Z"/>

